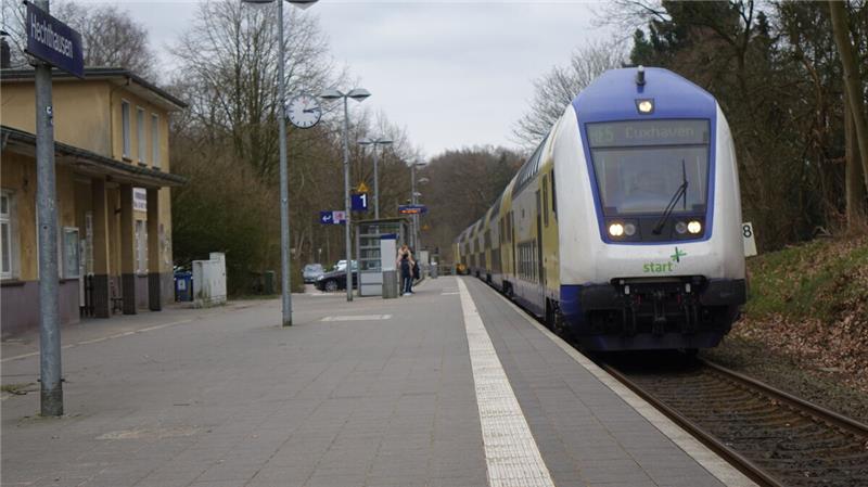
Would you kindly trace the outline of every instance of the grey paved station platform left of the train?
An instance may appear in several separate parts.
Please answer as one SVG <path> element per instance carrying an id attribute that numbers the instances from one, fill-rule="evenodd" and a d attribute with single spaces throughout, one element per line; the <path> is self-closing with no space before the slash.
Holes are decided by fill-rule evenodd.
<path id="1" fill-rule="evenodd" d="M 753 485 L 475 279 L 293 304 L 66 330 L 68 415 L 4 394 L 2 485 Z"/>

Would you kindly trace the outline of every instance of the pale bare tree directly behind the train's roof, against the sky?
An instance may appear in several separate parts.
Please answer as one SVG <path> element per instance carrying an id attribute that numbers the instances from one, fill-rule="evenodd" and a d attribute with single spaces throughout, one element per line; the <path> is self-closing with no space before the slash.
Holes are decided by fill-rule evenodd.
<path id="1" fill-rule="evenodd" d="M 535 148 L 576 94 L 603 72 L 621 67 L 625 56 L 621 41 L 590 42 L 573 52 L 566 65 L 537 78 L 534 99 L 515 124 L 513 139 L 525 149 Z"/>

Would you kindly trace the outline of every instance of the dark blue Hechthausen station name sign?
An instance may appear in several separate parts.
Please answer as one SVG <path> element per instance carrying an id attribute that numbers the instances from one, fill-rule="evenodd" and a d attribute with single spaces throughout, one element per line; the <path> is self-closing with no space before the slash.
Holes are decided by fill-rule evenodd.
<path id="1" fill-rule="evenodd" d="M 25 51 L 54 67 L 85 77 L 81 35 L 31 2 L 27 5 L 27 48 Z"/>

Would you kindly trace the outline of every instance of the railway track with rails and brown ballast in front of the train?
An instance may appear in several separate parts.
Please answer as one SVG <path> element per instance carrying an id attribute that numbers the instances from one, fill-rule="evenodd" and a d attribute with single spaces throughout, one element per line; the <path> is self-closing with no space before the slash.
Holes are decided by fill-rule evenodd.
<path id="1" fill-rule="evenodd" d="M 767 486 L 868 486 L 868 425 L 714 363 L 601 367 Z"/>

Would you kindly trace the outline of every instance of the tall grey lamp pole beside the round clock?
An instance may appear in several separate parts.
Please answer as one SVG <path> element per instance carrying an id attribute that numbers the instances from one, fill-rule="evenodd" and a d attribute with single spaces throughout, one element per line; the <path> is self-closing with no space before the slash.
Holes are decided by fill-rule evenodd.
<path id="1" fill-rule="evenodd" d="M 280 102 L 280 265 L 283 326 L 292 326 L 292 262 L 290 261 L 290 189 L 286 176 L 286 86 L 283 79 L 283 0 L 278 0 L 278 93 Z"/>

